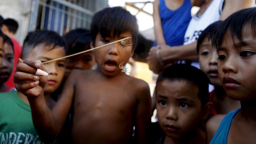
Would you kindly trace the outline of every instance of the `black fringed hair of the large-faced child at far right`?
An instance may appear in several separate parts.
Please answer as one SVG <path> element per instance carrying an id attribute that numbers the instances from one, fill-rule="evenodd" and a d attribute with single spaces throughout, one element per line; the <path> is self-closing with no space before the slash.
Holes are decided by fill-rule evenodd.
<path id="1" fill-rule="evenodd" d="M 234 39 L 237 38 L 239 44 L 244 45 L 242 34 L 245 28 L 250 28 L 250 32 L 256 37 L 256 8 L 245 8 L 231 14 L 218 28 L 214 38 L 218 49 L 223 43 L 224 37 L 229 33 Z M 235 44 L 235 43 L 234 43 Z"/>

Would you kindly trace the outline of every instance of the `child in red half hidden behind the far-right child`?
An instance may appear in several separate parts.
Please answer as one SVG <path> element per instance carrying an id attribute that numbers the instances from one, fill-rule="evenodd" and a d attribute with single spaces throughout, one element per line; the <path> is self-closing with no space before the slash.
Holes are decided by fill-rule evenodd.
<path id="1" fill-rule="evenodd" d="M 207 75 L 214 90 L 210 92 L 209 101 L 213 103 L 210 117 L 215 114 L 227 114 L 240 106 L 239 101 L 230 99 L 220 83 L 218 75 L 218 54 L 216 47 L 212 45 L 212 39 L 222 21 L 210 24 L 199 36 L 197 52 L 199 53 L 200 69 Z"/>

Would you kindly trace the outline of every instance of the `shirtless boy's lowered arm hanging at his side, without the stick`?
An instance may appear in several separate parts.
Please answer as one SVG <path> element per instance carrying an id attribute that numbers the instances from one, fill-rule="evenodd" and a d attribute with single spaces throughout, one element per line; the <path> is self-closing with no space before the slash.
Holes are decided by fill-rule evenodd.
<path id="1" fill-rule="evenodd" d="M 137 84 L 137 105 L 135 136 L 138 144 L 146 143 L 146 130 L 151 122 L 151 96 L 150 89 L 146 82 Z"/>

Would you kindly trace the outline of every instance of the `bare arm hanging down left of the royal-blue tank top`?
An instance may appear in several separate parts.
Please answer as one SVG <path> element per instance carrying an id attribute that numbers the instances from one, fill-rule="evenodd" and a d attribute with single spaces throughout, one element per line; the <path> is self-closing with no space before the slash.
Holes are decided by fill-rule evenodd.
<path id="1" fill-rule="evenodd" d="M 162 22 L 159 14 L 159 0 L 153 2 L 153 21 L 154 21 L 154 33 L 156 42 L 158 45 L 166 44 L 164 39 L 164 33 L 162 29 Z"/>

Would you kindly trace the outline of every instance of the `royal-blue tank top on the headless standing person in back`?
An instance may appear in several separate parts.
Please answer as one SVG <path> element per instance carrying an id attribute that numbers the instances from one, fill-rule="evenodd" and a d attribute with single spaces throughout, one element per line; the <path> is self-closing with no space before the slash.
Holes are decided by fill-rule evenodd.
<path id="1" fill-rule="evenodd" d="M 191 19 L 190 0 L 184 0 L 180 8 L 176 10 L 167 8 L 165 0 L 159 0 L 159 14 L 166 44 L 183 45 L 184 35 Z"/>

